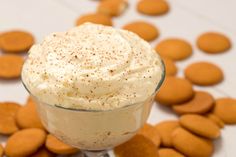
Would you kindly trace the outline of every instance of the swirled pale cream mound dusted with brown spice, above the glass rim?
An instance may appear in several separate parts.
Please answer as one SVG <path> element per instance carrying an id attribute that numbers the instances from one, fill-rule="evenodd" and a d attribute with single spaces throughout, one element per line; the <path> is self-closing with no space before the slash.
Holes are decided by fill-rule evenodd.
<path id="1" fill-rule="evenodd" d="M 162 73 L 158 54 L 134 33 L 86 23 L 34 45 L 22 80 L 50 105 L 111 110 L 146 100 Z"/>

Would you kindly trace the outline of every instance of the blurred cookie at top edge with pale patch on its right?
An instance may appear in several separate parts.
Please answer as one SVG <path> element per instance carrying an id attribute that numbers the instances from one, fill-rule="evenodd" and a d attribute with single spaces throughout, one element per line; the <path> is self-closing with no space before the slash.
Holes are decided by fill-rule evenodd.
<path id="1" fill-rule="evenodd" d="M 126 0 L 102 0 L 100 1 L 97 12 L 110 15 L 119 16 L 128 6 Z"/>

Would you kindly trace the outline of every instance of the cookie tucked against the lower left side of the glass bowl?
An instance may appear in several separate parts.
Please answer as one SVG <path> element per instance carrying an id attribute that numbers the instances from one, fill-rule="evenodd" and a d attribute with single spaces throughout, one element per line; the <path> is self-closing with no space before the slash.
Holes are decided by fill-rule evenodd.
<path id="1" fill-rule="evenodd" d="M 62 141 L 60 141 L 51 134 L 47 135 L 45 146 L 51 152 L 62 155 L 74 154 L 79 151 L 77 148 L 74 148 L 72 146 L 63 143 Z"/>

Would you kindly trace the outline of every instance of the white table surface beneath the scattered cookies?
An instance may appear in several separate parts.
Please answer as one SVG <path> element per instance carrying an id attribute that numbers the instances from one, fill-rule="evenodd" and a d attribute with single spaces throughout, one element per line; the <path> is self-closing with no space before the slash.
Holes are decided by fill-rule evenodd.
<path id="1" fill-rule="evenodd" d="M 120 17 L 114 18 L 115 27 L 121 27 L 133 20 L 146 20 L 158 26 L 161 36 L 152 42 L 156 45 L 166 37 L 182 37 L 194 47 L 194 55 L 186 61 L 178 62 L 179 76 L 182 69 L 198 60 L 211 61 L 219 65 L 225 73 L 223 83 L 214 87 L 195 87 L 211 92 L 214 97 L 236 97 L 236 52 L 207 55 L 196 48 L 197 36 L 205 31 L 220 31 L 236 43 L 236 1 L 235 0 L 169 0 L 171 11 L 165 16 L 148 17 L 136 12 L 137 0 L 129 1 L 129 9 Z M 33 32 L 37 42 L 50 32 L 65 31 L 74 26 L 76 18 L 94 12 L 96 0 L 0 0 L 0 32 L 20 28 Z M 1 52 L 0 52 L 1 53 Z M 27 97 L 20 80 L 0 80 L 0 101 L 16 101 L 23 104 Z M 176 116 L 167 108 L 153 105 L 150 123 L 157 123 Z M 0 136 L 4 143 L 5 137 Z M 226 126 L 222 137 L 215 142 L 214 157 L 235 157 L 236 126 Z"/>

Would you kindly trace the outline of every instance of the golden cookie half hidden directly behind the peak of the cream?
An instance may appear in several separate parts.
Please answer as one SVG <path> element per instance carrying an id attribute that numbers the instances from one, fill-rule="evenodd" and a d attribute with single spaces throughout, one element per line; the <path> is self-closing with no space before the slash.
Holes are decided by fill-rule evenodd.
<path id="1" fill-rule="evenodd" d="M 101 14 L 101 13 L 91 13 L 91 14 L 82 15 L 76 20 L 76 25 L 78 26 L 85 22 L 112 26 L 111 17 L 105 14 Z"/>

